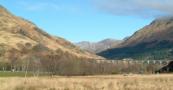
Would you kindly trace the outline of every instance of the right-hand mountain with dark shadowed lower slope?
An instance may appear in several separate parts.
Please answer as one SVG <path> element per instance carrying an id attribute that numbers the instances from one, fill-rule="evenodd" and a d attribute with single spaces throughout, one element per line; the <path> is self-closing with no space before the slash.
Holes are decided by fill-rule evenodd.
<path id="1" fill-rule="evenodd" d="M 173 59 L 173 17 L 154 20 L 118 47 L 98 55 L 109 59 Z"/>

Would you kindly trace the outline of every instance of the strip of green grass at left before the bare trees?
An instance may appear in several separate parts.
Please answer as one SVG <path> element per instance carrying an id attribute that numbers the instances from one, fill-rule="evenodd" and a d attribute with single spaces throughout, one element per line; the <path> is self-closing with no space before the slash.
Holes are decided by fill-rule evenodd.
<path id="1" fill-rule="evenodd" d="M 29 76 L 33 76 L 33 74 L 27 73 L 27 77 Z M 10 72 L 10 71 L 1 72 L 0 71 L 0 77 L 25 77 L 25 72 Z"/>

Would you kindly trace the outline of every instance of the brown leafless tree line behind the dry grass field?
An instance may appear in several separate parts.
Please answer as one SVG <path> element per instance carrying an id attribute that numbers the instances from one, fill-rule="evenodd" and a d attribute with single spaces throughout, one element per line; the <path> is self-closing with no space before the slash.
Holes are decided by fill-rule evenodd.
<path id="1" fill-rule="evenodd" d="M 30 47 L 30 45 L 27 45 Z M 110 63 L 72 56 L 68 52 L 50 51 L 39 44 L 32 49 L 11 49 L 0 53 L 0 71 L 32 72 L 39 75 L 106 75 L 123 73 L 154 73 L 161 68 L 157 64 Z M 4 54 L 5 53 L 5 54 Z"/>

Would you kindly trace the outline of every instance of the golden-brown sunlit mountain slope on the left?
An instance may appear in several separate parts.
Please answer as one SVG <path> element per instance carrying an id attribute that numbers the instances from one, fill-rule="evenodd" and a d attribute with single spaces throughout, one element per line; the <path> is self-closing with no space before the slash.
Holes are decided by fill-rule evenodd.
<path id="1" fill-rule="evenodd" d="M 63 38 L 49 35 L 32 22 L 14 16 L 0 6 L 0 62 L 46 55 L 57 55 L 68 60 L 101 58 Z"/>

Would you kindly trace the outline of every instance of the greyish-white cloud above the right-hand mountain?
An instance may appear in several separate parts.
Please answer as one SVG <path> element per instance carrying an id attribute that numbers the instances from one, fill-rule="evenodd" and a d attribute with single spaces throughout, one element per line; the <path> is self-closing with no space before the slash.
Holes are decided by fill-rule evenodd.
<path id="1" fill-rule="evenodd" d="M 173 0 L 92 0 L 97 8 L 116 15 L 173 15 Z"/>

